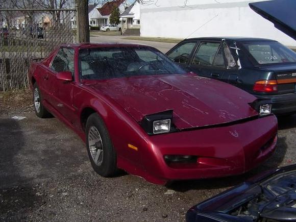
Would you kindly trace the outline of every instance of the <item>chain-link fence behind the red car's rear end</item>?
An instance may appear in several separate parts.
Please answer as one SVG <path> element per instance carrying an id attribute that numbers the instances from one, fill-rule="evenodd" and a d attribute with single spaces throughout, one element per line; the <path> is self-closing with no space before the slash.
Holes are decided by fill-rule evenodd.
<path id="1" fill-rule="evenodd" d="M 0 90 L 28 87 L 33 59 L 76 42 L 76 11 L 0 9 Z"/>

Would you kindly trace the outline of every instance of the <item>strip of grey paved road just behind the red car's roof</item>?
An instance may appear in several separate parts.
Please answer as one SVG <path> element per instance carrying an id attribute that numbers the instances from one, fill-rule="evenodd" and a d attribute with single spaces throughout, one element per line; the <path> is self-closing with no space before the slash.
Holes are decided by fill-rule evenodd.
<path id="1" fill-rule="evenodd" d="M 176 43 L 164 43 L 164 42 L 152 42 L 152 41 L 139 41 L 139 40 L 129 40 L 124 39 L 127 36 L 93 36 L 91 35 L 91 42 L 129 42 L 129 43 L 139 43 L 145 45 L 151 45 L 156 47 L 159 51 L 166 53 L 170 48 L 176 45 Z"/>

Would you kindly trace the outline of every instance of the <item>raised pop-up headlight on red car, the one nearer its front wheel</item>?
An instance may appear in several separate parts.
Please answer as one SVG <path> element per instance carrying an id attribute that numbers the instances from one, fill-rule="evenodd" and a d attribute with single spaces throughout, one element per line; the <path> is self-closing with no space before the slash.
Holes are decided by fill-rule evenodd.
<path id="1" fill-rule="evenodd" d="M 149 135 L 171 132 L 172 110 L 146 115 L 140 125 Z"/>

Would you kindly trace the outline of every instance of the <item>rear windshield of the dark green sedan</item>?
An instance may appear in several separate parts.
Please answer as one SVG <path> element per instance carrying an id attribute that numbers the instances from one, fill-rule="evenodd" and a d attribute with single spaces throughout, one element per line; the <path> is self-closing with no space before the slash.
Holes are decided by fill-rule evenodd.
<path id="1" fill-rule="evenodd" d="M 258 41 L 243 43 L 258 64 L 296 62 L 296 54 L 279 42 Z"/>

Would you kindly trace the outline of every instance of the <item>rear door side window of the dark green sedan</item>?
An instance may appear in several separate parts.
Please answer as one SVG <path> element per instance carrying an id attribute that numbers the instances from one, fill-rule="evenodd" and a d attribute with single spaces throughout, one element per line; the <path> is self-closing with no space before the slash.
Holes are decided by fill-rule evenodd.
<path id="1" fill-rule="evenodd" d="M 225 67 L 223 48 L 218 42 L 202 42 L 192 64 Z"/>

